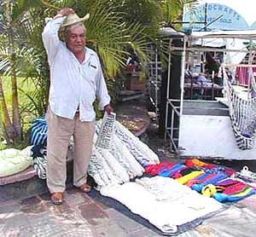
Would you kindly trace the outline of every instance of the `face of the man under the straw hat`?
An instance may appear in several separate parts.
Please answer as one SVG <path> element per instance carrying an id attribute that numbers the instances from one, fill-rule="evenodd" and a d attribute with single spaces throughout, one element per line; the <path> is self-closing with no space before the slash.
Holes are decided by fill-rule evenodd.
<path id="1" fill-rule="evenodd" d="M 79 54 L 85 47 L 85 32 L 83 26 L 73 26 L 67 31 L 66 35 L 67 48 L 70 49 L 73 54 Z"/>

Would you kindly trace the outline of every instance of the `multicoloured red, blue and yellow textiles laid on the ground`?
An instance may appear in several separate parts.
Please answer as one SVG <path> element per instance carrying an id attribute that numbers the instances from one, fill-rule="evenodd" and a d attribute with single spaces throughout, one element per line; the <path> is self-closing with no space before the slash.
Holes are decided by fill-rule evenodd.
<path id="1" fill-rule="evenodd" d="M 236 171 L 219 165 L 210 165 L 198 159 L 188 159 L 183 165 L 163 162 L 148 165 L 145 173 L 165 176 L 219 202 L 232 202 L 255 194 L 255 188 L 233 178 Z"/>

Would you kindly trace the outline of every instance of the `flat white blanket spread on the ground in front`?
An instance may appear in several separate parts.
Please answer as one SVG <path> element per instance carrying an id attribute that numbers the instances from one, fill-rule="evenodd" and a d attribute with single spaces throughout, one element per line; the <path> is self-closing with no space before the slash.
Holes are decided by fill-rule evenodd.
<path id="1" fill-rule="evenodd" d="M 169 234 L 177 233 L 178 226 L 207 217 L 223 207 L 215 199 L 162 176 L 106 186 L 101 189 L 101 194 L 117 199 L 133 213 Z"/>

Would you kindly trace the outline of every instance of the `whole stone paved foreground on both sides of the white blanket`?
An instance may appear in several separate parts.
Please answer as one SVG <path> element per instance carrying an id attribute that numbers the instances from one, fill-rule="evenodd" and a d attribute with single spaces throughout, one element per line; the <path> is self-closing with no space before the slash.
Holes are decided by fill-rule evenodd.
<path id="1" fill-rule="evenodd" d="M 253 237 L 255 195 L 220 212 L 179 237 Z M 249 207 L 249 208 L 247 208 Z M 170 215 L 175 215 L 170 210 Z M 1 202 L 0 237 L 160 237 L 151 228 L 102 204 L 77 188 L 67 188 L 63 205 L 53 205 L 49 194 Z"/>

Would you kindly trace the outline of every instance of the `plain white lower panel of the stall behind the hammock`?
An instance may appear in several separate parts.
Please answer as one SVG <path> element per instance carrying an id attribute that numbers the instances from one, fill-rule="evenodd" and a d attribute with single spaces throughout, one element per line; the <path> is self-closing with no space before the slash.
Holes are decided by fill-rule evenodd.
<path id="1" fill-rule="evenodd" d="M 256 159 L 256 145 L 241 150 L 227 116 L 181 115 L 179 143 L 182 155 L 223 159 Z"/>

